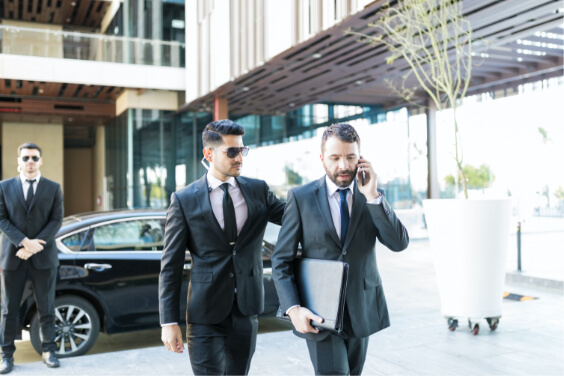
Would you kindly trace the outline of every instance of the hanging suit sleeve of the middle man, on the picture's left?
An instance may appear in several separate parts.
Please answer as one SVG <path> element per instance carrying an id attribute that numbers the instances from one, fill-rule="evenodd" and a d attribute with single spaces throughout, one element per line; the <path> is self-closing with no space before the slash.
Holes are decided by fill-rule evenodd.
<path id="1" fill-rule="evenodd" d="M 166 214 L 164 249 L 159 275 L 159 314 L 161 324 L 180 322 L 180 292 L 188 244 L 188 225 L 176 193 Z"/>

